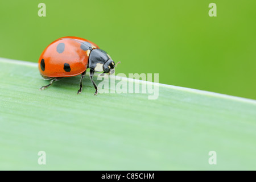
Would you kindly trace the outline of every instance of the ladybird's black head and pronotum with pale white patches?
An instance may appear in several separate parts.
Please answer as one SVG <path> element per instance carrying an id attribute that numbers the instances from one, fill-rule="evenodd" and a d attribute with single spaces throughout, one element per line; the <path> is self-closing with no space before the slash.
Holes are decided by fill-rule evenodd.
<path id="1" fill-rule="evenodd" d="M 93 49 L 89 56 L 89 68 L 96 72 L 113 73 L 115 62 L 105 51 Z"/>

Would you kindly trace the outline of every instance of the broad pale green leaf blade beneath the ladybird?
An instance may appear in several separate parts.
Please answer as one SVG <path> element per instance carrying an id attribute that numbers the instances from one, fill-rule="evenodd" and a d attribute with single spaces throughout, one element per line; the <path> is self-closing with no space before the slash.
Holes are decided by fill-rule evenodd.
<path id="1" fill-rule="evenodd" d="M 256 169 L 254 100 L 162 84 L 157 100 L 93 96 L 88 75 L 80 95 L 79 76 L 40 91 L 36 64 L 0 68 L 0 169 Z"/>

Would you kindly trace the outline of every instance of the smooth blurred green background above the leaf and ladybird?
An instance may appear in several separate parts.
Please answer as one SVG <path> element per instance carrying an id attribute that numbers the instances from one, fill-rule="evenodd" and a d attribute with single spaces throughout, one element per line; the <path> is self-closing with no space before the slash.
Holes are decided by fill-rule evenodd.
<path id="1" fill-rule="evenodd" d="M 38 4 L 46 4 L 46 17 Z M 217 17 L 208 15 L 209 3 Z M 37 62 L 62 36 L 98 44 L 117 73 L 159 73 L 159 82 L 256 99 L 256 1 L 0 2 L 0 57 Z"/>

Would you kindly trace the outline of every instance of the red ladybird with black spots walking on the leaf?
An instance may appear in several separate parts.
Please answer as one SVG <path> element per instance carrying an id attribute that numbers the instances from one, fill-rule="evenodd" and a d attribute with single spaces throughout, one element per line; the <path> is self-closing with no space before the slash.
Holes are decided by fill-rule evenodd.
<path id="1" fill-rule="evenodd" d="M 114 67 L 116 67 L 114 61 L 97 44 L 75 36 L 59 38 L 49 44 L 39 57 L 39 72 L 44 80 L 50 80 L 50 83 L 42 86 L 40 90 L 48 88 L 53 82 L 64 77 L 81 74 L 80 89 L 77 91 L 77 94 L 80 94 L 82 92 L 82 79 L 86 69 L 90 68 L 89 77 L 96 89 L 94 95 L 97 95 L 98 88 L 93 81 L 94 72 L 110 74 L 114 72 Z"/>

